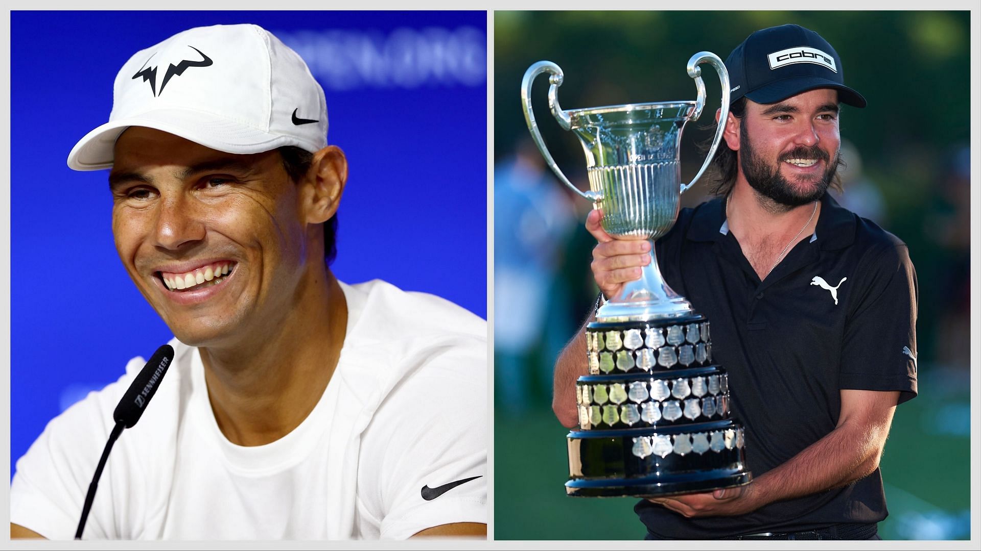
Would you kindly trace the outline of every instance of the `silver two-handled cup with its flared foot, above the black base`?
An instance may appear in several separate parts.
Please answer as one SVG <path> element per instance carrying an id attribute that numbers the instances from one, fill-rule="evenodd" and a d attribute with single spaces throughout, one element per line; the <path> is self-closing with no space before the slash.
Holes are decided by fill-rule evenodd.
<path id="1" fill-rule="evenodd" d="M 652 262 L 644 267 L 641 278 L 623 286 L 619 295 L 599 308 L 600 322 L 643 322 L 653 319 L 691 315 L 692 305 L 664 282 L 653 254 L 653 242 L 664 235 L 678 218 L 681 194 L 701 177 L 715 155 L 725 125 L 719 125 L 708 151 L 708 157 L 690 183 L 681 179 L 679 146 L 686 123 L 697 121 L 705 107 L 705 84 L 701 79 L 702 63 L 708 63 L 722 81 L 722 113 L 729 114 L 729 74 L 718 56 L 698 52 L 688 60 L 688 75 L 695 78 L 696 101 L 668 101 L 574 109 L 563 111 L 558 104 L 558 87 L 564 78 L 562 70 L 549 61 L 528 68 L 521 82 L 521 104 L 532 139 L 542 151 L 548 166 L 558 178 L 578 195 L 602 209 L 603 229 L 616 239 L 648 239 Z M 586 171 L 590 191 L 581 191 L 562 174 L 542 140 L 532 110 L 532 82 L 547 73 L 548 108 L 558 124 L 573 130 L 586 153 Z"/>

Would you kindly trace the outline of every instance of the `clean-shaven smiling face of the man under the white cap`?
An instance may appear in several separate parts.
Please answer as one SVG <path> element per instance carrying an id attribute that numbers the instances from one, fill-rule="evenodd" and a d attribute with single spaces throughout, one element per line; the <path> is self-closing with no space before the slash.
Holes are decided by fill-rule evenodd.
<path id="1" fill-rule="evenodd" d="M 233 345 L 280 324 L 308 264 L 322 264 L 280 154 L 232 155 L 138 126 L 115 151 L 116 248 L 175 336 Z"/>

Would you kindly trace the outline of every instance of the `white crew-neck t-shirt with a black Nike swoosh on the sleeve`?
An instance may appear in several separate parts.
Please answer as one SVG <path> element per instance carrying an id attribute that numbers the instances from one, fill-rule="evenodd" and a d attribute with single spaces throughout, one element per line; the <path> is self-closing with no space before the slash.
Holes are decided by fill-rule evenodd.
<path id="1" fill-rule="evenodd" d="M 116 442 L 83 538 L 405 538 L 487 523 L 486 322 L 380 280 L 341 287 L 336 372 L 310 415 L 270 444 L 222 434 L 198 350 L 172 340 L 174 362 Z M 17 462 L 12 523 L 75 536 L 112 412 L 144 363 L 45 427 Z M 423 499 L 423 486 L 472 476 Z"/>

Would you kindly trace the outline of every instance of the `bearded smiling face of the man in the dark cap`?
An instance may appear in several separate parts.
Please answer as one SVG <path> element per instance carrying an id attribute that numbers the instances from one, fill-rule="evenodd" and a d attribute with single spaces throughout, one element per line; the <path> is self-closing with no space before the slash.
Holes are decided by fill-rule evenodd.
<path id="1" fill-rule="evenodd" d="M 838 113 L 838 92 L 829 88 L 775 104 L 749 101 L 737 138 L 749 185 L 786 207 L 820 199 L 840 162 Z"/>

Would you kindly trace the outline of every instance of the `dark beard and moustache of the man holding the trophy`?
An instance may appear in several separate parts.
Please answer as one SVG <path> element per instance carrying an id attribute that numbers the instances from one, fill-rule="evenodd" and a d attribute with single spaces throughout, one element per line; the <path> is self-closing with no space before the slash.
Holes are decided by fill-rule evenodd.
<path id="1" fill-rule="evenodd" d="M 806 205 L 824 197 L 828 186 L 834 181 L 835 173 L 841 164 L 840 152 L 835 152 L 835 159 L 828 162 L 828 154 L 821 148 L 815 146 L 800 146 L 793 151 L 781 155 L 777 159 L 778 166 L 770 167 L 763 158 L 757 156 L 749 144 L 749 134 L 746 127 L 740 128 L 740 167 L 743 175 L 746 176 L 749 185 L 756 190 L 760 196 L 773 202 L 773 206 L 779 210 L 789 210 L 800 205 Z M 813 189 L 807 193 L 799 193 L 797 188 L 792 185 L 787 178 L 780 174 L 779 163 L 787 159 L 819 159 L 825 162 L 827 168 L 821 179 L 815 182 Z"/>

